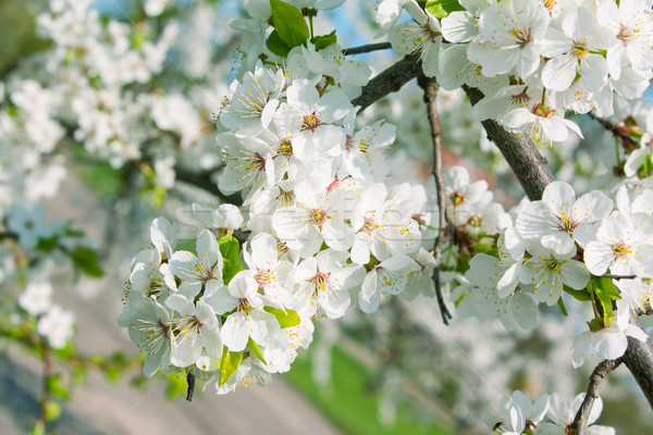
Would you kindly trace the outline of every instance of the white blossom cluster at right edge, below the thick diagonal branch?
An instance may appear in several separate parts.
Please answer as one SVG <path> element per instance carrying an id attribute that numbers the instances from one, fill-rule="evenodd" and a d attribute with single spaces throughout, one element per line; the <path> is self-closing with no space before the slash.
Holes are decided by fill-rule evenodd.
<path id="1" fill-rule="evenodd" d="M 575 366 L 623 356 L 627 336 L 645 340 L 628 320 L 653 294 L 653 190 L 630 199 L 623 186 L 616 206 L 613 210 L 613 200 L 599 190 L 578 198 L 567 183 L 550 184 L 541 201 L 516 210 L 515 223 L 498 237 L 496 256 L 472 258 L 467 285 L 457 289 L 468 291 L 459 312 L 530 328 L 539 303 L 564 310 L 565 293 L 590 301 L 595 316 L 574 343 Z"/>

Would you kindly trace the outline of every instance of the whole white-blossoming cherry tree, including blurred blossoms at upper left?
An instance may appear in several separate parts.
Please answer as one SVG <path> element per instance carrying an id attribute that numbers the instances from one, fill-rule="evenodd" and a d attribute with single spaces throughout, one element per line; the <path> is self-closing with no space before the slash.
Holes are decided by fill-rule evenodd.
<path id="1" fill-rule="evenodd" d="M 507 330 L 535 327 L 546 306 L 591 311 L 568 355 L 575 368 L 595 365 L 587 393 L 533 402 L 517 390 L 489 418 L 496 432 L 614 433 L 588 425 L 602 408 L 602 380 L 620 364 L 653 406 L 653 347 L 638 321 L 651 312 L 653 278 L 653 112 L 638 105 L 653 77 L 653 2 L 383 0 L 374 20 L 384 40 L 343 48 L 337 28 L 313 26 L 342 0 L 251 0 L 247 17 L 232 23 L 243 30 L 242 55 L 222 107 L 212 108 L 217 132 L 194 115 L 210 101 L 143 90 L 162 71 L 172 30 L 156 39 L 100 25 L 82 3 L 52 1 L 39 20 L 57 44 L 48 65 L 73 78 L 64 90 L 35 79 L 8 85 L 3 130 L 15 144 L 38 144 L 38 162 L 67 128 L 116 166 L 138 160 L 160 198 L 176 176 L 221 199 L 192 206 L 181 222 L 198 228 L 190 239 L 180 223 L 156 219 L 151 244 L 132 261 L 118 323 L 146 353 L 146 376 L 184 373 L 189 395 L 197 378 L 218 394 L 266 385 L 292 370 L 316 322 L 422 294 L 436 298 L 445 323 L 478 316 Z M 149 0 L 144 11 L 158 16 L 167 3 Z M 82 30 L 58 30 L 79 21 L 93 44 Z M 354 58 L 390 49 L 404 58 L 373 77 Z M 364 114 L 414 78 L 431 128 L 426 184 L 393 177 L 401 120 Z M 458 88 L 528 197 L 512 210 L 461 166 L 443 170 L 438 94 Z M 617 164 L 577 195 L 540 150 L 582 138 L 583 114 L 613 134 Z M 38 130 L 29 127 L 36 116 Z M 35 177 L 63 176 L 57 163 L 44 167 L 12 184 L 32 202 L 48 195 L 27 187 Z M 82 254 L 91 248 L 64 240 L 72 229 L 48 228 L 19 195 L 8 197 L 5 238 L 96 271 Z M 30 282 L 19 304 L 59 348 L 72 320 L 49 304 L 50 293 Z"/>

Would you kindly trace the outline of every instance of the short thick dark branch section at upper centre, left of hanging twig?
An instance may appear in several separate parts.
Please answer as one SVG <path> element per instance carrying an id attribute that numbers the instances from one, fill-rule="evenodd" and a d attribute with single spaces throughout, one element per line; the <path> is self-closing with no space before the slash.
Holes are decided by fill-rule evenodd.
<path id="1" fill-rule="evenodd" d="M 421 62 L 419 62 L 419 54 L 408 54 L 372 78 L 362 87 L 362 92 L 352 103 L 360 105 L 360 111 L 364 111 L 386 95 L 399 90 L 402 86 L 417 77 L 420 73 Z"/>

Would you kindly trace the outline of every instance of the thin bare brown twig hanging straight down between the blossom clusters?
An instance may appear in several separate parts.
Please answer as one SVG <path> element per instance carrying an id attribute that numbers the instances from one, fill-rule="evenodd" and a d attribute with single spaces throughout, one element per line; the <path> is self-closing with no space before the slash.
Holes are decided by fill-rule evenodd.
<path id="1" fill-rule="evenodd" d="M 444 298 L 442 297 L 442 288 L 440 286 L 440 264 L 442 263 L 442 233 L 445 229 L 445 211 L 446 200 L 444 198 L 444 187 L 442 178 L 442 140 L 440 134 L 440 121 L 438 120 L 438 83 L 434 78 L 428 78 L 421 74 L 417 83 L 424 91 L 424 103 L 427 104 L 427 111 L 429 113 L 429 121 L 431 124 L 431 139 L 433 140 L 433 175 L 435 177 L 435 189 L 438 190 L 438 212 L 439 212 L 439 227 L 438 236 L 435 237 L 434 258 L 438 265 L 433 270 L 433 281 L 435 283 L 435 295 L 438 296 L 438 306 L 440 307 L 440 313 L 442 314 L 442 321 L 445 325 L 448 325 L 452 313 L 446 308 Z"/>

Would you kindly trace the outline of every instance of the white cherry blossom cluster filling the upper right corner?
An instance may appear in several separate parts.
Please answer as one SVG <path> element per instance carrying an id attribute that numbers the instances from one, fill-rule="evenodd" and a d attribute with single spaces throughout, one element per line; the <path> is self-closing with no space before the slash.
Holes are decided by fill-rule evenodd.
<path id="1" fill-rule="evenodd" d="M 640 98 L 653 76 L 651 2 L 466 1 L 433 16 L 415 0 L 385 0 L 380 34 L 403 53 L 421 53 L 424 74 L 445 89 L 479 88 L 473 109 L 544 144 L 579 127 L 565 111 L 614 113 L 615 96 Z M 415 21 L 396 25 L 405 9 Z M 435 12 L 435 11 L 433 11 Z M 444 16 L 446 15 L 446 16 Z"/>

